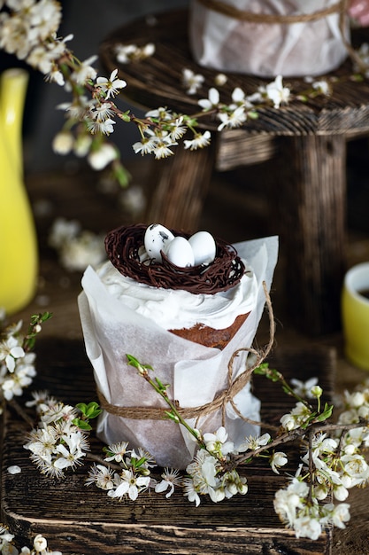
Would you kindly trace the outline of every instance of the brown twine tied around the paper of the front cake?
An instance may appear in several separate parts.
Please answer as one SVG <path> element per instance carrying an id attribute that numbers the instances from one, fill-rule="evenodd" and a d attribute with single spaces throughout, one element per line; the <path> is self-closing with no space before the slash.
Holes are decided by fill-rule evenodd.
<path id="1" fill-rule="evenodd" d="M 244 387 L 246 387 L 251 379 L 253 371 L 258 368 L 258 366 L 265 360 L 266 356 L 270 353 L 273 347 L 274 341 L 274 318 L 273 318 L 273 308 L 272 302 L 270 300 L 269 293 L 266 288 L 265 282 L 263 282 L 264 292 L 265 292 L 265 299 L 266 305 L 269 314 L 269 342 L 264 349 L 257 350 L 255 348 L 239 348 L 234 351 L 234 354 L 231 356 L 228 368 L 227 368 L 227 388 L 222 390 L 219 395 L 217 395 L 210 403 L 205 403 L 204 405 L 198 407 L 190 407 L 190 408 L 181 408 L 179 403 L 174 401 L 176 404 L 176 409 L 181 414 L 181 417 L 184 419 L 188 418 L 196 418 L 196 424 L 200 418 L 211 414 L 216 410 L 221 410 L 222 414 L 222 425 L 224 426 L 226 420 L 226 410 L 227 410 L 227 403 L 230 403 L 233 410 L 237 414 L 239 418 L 242 418 L 244 421 L 249 422 L 250 424 L 261 425 L 261 422 L 257 422 L 251 420 L 250 418 L 243 417 L 240 410 L 238 410 L 236 403 L 234 403 L 234 396 L 237 395 L 242 391 Z M 235 379 L 233 377 L 234 373 L 234 359 L 239 356 L 242 352 L 249 352 L 250 354 L 255 356 L 255 362 L 252 363 L 250 366 L 247 366 L 242 373 L 240 373 Z M 108 412 L 109 414 L 119 416 L 122 418 L 133 418 L 133 419 L 152 419 L 152 420 L 162 420 L 166 417 L 165 408 L 161 407 L 139 407 L 139 406 L 130 406 L 130 407 L 122 407 L 118 405 L 111 404 L 107 401 L 101 391 L 97 390 L 97 396 L 100 402 L 100 406 L 103 410 Z"/>

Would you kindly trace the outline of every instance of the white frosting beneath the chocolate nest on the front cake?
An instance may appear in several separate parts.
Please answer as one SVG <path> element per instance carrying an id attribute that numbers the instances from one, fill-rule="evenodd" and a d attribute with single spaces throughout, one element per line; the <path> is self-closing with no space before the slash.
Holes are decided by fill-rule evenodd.
<path id="1" fill-rule="evenodd" d="M 196 324 L 222 330 L 233 324 L 236 317 L 247 314 L 256 306 L 257 278 L 246 264 L 245 267 L 246 273 L 237 285 L 215 294 L 189 293 L 141 284 L 122 276 L 111 262 L 105 262 L 97 274 L 114 298 L 165 330 L 191 328 Z"/>

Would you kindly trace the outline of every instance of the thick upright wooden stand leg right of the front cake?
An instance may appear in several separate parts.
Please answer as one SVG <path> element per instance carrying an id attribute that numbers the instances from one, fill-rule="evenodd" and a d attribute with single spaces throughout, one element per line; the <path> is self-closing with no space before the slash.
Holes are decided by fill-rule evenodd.
<path id="1" fill-rule="evenodd" d="M 344 136 L 285 137 L 282 147 L 286 301 L 304 331 L 335 332 L 345 270 L 346 141 Z"/>

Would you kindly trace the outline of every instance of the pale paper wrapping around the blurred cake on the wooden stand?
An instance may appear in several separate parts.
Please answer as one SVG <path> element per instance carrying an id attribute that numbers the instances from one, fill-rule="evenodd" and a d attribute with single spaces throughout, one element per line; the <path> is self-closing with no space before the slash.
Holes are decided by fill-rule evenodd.
<path id="1" fill-rule="evenodd" d="M 223 0 L 242 11 L 298 15 L 324 10 L 337 0 Z M 349 37 L 349 23 L 345 29 Z M 347 57 L 340 16 L 292 24 L 254 23 L 213 12 L 193 0 L 189 43 L 196 62 L 219 71 L 276 75 L 319 75 Z M 250 91 L 248 91 L 250 92 Z"/>

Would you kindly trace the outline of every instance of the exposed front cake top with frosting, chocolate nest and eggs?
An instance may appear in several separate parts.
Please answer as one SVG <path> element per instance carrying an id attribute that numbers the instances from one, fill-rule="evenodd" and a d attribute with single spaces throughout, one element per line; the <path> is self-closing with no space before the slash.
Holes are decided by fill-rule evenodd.
<path id="1" fill-rule="evenodd" d="M 186 340 L 225 348 L 256 306 L 253 270 L 207 231 L 135 224 L 108 233 L 105 248 L 98 276 L 108 292 Z"/>

